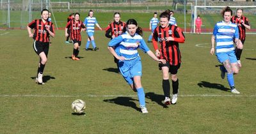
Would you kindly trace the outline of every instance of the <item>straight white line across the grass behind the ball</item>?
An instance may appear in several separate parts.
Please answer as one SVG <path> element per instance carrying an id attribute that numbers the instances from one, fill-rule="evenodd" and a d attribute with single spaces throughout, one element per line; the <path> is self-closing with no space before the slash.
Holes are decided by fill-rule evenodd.
<path id="1" fill-rule="evenodd" d="M 0 97 L 7 97 L 7 98 L 15 98 L 15 97 L 36 97 L 36 98 L 74 98 L 74 97 L 93 97 L 93 98 L 110 98 L 110 97 L 137 97 L 137 95 L 79 95 L 79 96 L 72 96 L 72 95 L 38 95 L 38 94 L 1 94 Z M 179 97 L 256 97 L 256 94 L 253 95 L 241 95 L 241 94 L 180 94 Z"/>

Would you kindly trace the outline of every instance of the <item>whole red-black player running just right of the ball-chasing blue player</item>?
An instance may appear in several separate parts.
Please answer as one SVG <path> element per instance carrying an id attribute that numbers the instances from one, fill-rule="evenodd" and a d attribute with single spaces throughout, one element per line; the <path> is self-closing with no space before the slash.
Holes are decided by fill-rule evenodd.
<path id="1" fill-rule="evenodd" d="M 159 70 L 163 71 L 163 91 L 164 104 L 170 105 L 170 82 L 169 72 L 172 78 L 173 96 L 172 103 L 175 104 L 178 96 L 179 80 L 177 72 L 180 68 L 181 56 L 179 43 L 184 43 L 185 36 L 180 27 L 170 25 L 170 14 L 166 11 L 160 15 L 160 26 L 157 26 L 153 33 L 153 45 L 156 50 L 156 56 L 159 59 L 165 59 L 166 64 L 159 63 Z M 160 40 L 160 47 L 157 45 L 157 40 Z"/>

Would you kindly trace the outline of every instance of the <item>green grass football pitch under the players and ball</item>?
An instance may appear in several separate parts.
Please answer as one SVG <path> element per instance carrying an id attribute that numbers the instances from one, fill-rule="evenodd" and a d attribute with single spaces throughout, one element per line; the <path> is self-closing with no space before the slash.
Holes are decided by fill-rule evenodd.
<path id="1" fill-rule="evenodd" d="M 63 30 L 56 31 L 45 85 L 35 84 L 38 56 L 28 32 L 0 31 L 0 133 L 256 133 L 255 35 L 247 35 L 243 67 L 234 76 L 238 95 L 230 93 L 209 53 L 211 35 L 185 36 L 176 105 L 164 107 L 162 72 L 139 50 L 149 112 L 141 114 L 136 93 L 117 73 L 104 31 L 95 31 L 98 51 L 84 50 L 83 32 L 80 61 L 70 59 L 73 45 L 64 43 Z M 86 102 L 86 114 L 72 113 L 77 99 Z"/>

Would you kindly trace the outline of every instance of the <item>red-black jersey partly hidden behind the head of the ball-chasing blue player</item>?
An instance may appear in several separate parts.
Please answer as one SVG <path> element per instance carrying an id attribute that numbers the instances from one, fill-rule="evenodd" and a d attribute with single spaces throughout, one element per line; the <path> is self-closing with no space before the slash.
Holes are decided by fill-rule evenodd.
<path id="1" fill-rule="evenodd" d="M 123 30 L 125 29 L 126 24 L 125 22 L 119 21 L 119 22 L 112 22 L 111 24 L 108 25 L 106 28 L 106 34 L 105 36 L 108 38 L 112 38 L 113 35 L 115 37 L 121 35 L 123 33 Z"/>

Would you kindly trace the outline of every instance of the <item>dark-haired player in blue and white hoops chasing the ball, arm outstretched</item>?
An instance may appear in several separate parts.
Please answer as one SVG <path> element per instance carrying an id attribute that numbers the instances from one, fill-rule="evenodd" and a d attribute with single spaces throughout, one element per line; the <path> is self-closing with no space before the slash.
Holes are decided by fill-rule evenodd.
<path id="1" fill-rule="evenodd" d="M 140 36 L 142 30 L 140 27 L 137 27 L 136 20 L 129 19 L 126 25 L 127 31 L 109 41 L 108 49 L 119 60 L 119 70 L 126 82 L 131 86 L 132 90 L 137 92 L 141 112 L 148 113 L 145 105 L 145 93 L 141 86 L 141 59 L 137 49 L 140 48 L 143 52 L 147 52 L 148 56 L 158 62 L 165 64 L 166 61 L 164 59 L 157 59 L 155 54 L 147 47 L 147 44 Z"/>

